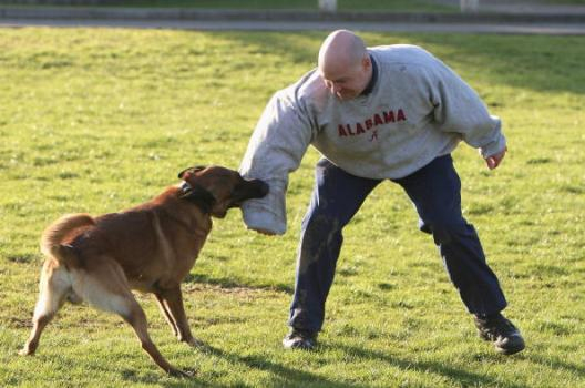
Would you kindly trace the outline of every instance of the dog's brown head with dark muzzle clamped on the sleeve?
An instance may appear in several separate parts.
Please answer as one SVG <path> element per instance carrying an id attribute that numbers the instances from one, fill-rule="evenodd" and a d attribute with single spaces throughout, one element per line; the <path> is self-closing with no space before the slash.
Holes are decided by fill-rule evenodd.
<path id="1" fill-rule="evenodd" d="M 183 197 L 199 202 L 215 217 L 225 217 L 232 207 L 246 200 L 268 194 L 268 184 L 260 180 L 245 180 L 237 171 L 222 166 L 195 166 L 182 171 L 185 181 Z"/>

